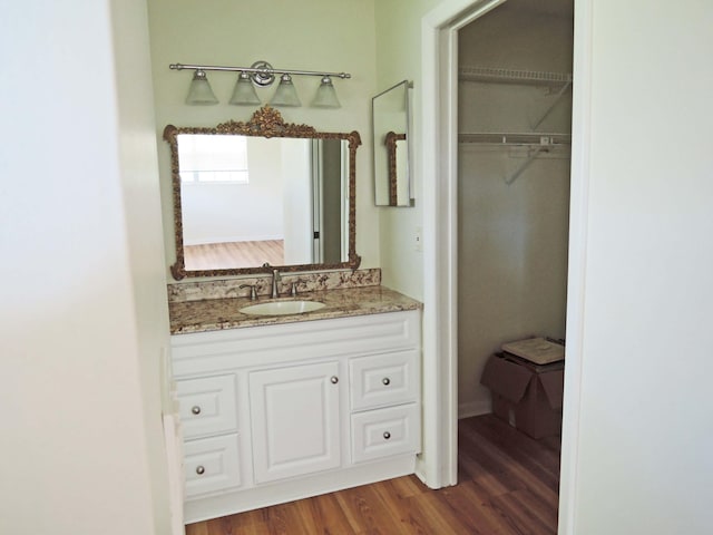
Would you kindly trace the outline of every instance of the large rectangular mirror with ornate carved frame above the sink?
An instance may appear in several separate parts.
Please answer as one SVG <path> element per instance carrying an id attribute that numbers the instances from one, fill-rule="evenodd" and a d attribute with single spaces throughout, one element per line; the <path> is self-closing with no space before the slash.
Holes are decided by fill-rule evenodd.
<path id="1" fill-rule="evenodd" d="M 359 133 L 284 123 L 264 106 L 246 123 L 166 126 L 176 280 L 359 268 Z"/>

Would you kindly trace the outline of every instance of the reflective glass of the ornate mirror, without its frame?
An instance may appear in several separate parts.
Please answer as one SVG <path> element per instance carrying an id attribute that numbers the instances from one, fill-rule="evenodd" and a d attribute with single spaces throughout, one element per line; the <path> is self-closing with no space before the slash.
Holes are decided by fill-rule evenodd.
<path id="1" fill-rule="evenodd" d="M 177 137 L 186 270 L 349 260 L 345 142 Z"/>

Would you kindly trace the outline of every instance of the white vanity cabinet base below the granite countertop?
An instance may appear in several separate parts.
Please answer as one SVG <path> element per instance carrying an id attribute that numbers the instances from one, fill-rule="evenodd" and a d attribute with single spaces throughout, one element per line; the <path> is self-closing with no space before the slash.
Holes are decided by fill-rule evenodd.
<path id="1" fill-rule="evenodd" d="M 172 337 L 186 523 L 412 474 L 420 311 Z"/>

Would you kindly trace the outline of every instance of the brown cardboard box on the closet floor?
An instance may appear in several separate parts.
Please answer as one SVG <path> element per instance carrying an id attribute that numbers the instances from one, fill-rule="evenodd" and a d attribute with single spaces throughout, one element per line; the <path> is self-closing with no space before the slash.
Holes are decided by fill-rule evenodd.
<path id="1" fill-rule="evenodd" d="M 508 353 L 486 363 L 480 383 L 492 395 L 492 412 L 533 438 L 559 435 L 565 362 L 537 366 Z"/>

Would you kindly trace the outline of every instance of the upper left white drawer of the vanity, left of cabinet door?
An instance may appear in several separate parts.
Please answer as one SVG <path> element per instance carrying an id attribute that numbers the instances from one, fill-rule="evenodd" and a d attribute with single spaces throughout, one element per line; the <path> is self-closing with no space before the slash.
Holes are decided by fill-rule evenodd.
<path id="1" fill-rule="evenodd" d="M 237 429 L 235 376 L 202 377 L 176 381 L 184 438 Z"/>

